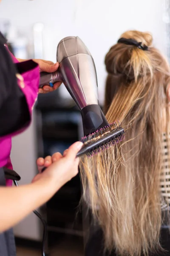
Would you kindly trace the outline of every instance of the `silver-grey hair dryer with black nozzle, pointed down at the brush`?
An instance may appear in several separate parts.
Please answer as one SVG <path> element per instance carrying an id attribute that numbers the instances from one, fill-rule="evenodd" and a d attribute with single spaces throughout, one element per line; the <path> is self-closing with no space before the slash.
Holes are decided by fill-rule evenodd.
<path id="1" fill-rule="evenodd" d="M 59 68 L 54 73 L 42 72 L 40 87 L 65 84 L 80 109 L 84 135 L 109 125 L 98 102 L 98 87 L 94 60 L 79 37 L 63 38 L 57 47 Z"/>

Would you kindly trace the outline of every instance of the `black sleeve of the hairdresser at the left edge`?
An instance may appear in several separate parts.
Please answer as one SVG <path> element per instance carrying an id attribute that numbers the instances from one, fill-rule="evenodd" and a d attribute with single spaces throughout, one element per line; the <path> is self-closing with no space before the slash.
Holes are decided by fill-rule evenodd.
<path id="1" fill-rule="evenodd" d="M 11 134 L 30 121 L 26 98 L 17 84 L 16 65 L 0 42 L 0 136 Z"/>

